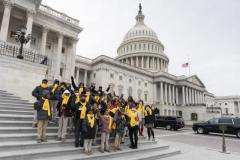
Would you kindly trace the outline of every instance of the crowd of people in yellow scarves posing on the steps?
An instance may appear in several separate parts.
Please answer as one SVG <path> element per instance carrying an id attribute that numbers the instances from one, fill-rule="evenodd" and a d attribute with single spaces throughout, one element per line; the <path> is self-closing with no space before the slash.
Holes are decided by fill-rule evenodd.
<path id="1" fill-rule="evenodd" d="M 47 142 L 48 124 L 58 125 L 56 141 L 64 143 L 69 132 L 75 135 L 75 147 L 84 147 L 86 154 L 92 153 L 92 145 L 97 143 L 100 133 L 100 152 L 110 152 L 110 137 L 114 139 L 113 150 L 121 150 L 124 138 L 130 138 L 130 148 L 138 148 L 138 136 L 143 136 L 147 128 L 148 140 L 155 140 L 154 120 L 158 110 L 152 105 L 144 106 L 143 101 L 134 101 L 129 96 L 110 93 L 110 86 L 104 91 L 92 84 L 76 85 L 47 79 L 37 86 L 32 95 L 36 98 L 34 120 L 37 127 L 37 143 Z M 34 124 L 35 125 L 35 124 Z M 152 137 L 152 139 L 151 139 Z"/>

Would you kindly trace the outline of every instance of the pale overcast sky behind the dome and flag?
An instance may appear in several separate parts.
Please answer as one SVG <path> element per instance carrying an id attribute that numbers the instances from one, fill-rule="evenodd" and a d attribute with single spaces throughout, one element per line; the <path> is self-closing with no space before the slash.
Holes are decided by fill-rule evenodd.
<path id="1" fill-rule="evenodd" d="M 80 20 L 77 54 L 117 56 L 117 47 L 135 25 L 138 3 L 145 23 L 170 59 L 169 72 L 188 75 L 190 59 L 209 92 L 240 95 L 240 0 L 43 0 Z"/>

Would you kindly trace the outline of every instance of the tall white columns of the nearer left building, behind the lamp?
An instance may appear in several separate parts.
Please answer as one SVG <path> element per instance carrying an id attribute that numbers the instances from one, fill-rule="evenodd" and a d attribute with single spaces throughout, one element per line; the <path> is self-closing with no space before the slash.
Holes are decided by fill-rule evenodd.
<path id="1" fill-rule="evenodd" d="M 2 25 L 0 30 L 0 40 L 6 42 L 13 4 L 9 0 L 3 0 L 3 6 L 4 6 L 4 12 L 3 12 Z M 27 16 L 26 34 L 32 34 L 33 16 L 35 13 L 36 12 L 33 10 L 27 10 L 26 12 L 26 16 Z M 45 56 L 47 56 L 46 55 L 47 34 L 48 34 L 48 29 L 47 27 L 43 26 L 40 51 L 41 51 L 41 54 Z M 52 62 L 53 61 L 54 62 L 53 62 L 51 71 L 53 72 L 52 74 L 55 79 L 60 79 L 61 55 L 62 55 L 62 45 L 63 45 L 64 34 L 57 33 L 57 36 L 58 36 L 57 51 L 56 51 L 56 55 L 53 56 L 54 59 L 52 59 Z M 30 44 L 31 42 L 27 43 L 25 45 L 25 48 L 30 48 Z M 73 39 L 72 48 L 69 53 L 70 55 L 67 56 L 67 62 L 66 62 L 65 79 L 67 80 L 70 79 L 69 77 L 74 73 L 76 45 L 77 45 L 77 40 Z"/>

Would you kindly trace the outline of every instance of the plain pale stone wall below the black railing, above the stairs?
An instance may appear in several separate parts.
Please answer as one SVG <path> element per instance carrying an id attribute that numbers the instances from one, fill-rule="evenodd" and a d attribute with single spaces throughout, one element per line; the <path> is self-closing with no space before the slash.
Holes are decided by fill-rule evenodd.
<path id="1" fill-rule="evenodd" d="M 47 66 L 0 56 L 0 89 L 34 101 L 32 90 L 45 78 Z"/>

